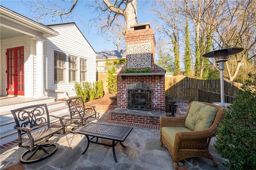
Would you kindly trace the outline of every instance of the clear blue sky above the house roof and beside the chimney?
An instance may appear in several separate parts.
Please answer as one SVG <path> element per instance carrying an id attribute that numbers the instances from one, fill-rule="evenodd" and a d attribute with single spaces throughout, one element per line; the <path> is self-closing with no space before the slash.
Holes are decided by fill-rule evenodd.
<path id="1" fill-rule="evenodd" d="M 140 4 L 144 3 L 144 0 L 138 0 L 138 7 Z M 0 0 L 0 5 L 8 8 L 18 14 L 26 16 L 33 20 L 33 14 L 30 13 L 30 10 L 26 8 L 26 6 L 20 2 L 20 0 Z M 143 7 L 146 9 L 146 7 Z M 149 8 L 148 8 L 149 9 Z M 112 42 L 106 42 L 106 40 L 97 35 L 97 30 L 91 29 L 88 32 L 88 28 L 84 26 L 83 22 L 89 22 L 90 19 L 93 18 L 95 14 L 91 14 L 91 11 L 86 10 L 81 3 L 78 3 L 77 6 L 74 8 L 74 17 L 72 20 L 68 20 L 68 22 L 75 22 L 80 31 L 84 34 L 88 42 L 92 45 L 96 52 L 105 51 L 105 50 L 116 50 L 116 47 Z M 146 12 L 146 10 L 138 9 L 138 23 L 150 22 L 150 14 Z M 60 21 L 52 22 L 52 20 L 44 20 L 40 21 L 42 24 L 49 25 L 49 24 L 60 24 Z M 150 23 L 151 25 L 151 23 Z M 152 27 L 152 25 L 151 25 Z"/>

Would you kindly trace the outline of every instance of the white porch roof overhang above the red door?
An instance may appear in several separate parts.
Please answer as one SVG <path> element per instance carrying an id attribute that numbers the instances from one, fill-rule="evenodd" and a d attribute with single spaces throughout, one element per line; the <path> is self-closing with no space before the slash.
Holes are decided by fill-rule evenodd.
<path id="1" fill-rule="evenodd" d="M 58 36 L 58 32 L 52 28 L 30 20 L 3 6 L 0 6 L 0 20 L 1 39 L 22 35 L 42 36 L 43 38 Z"/>

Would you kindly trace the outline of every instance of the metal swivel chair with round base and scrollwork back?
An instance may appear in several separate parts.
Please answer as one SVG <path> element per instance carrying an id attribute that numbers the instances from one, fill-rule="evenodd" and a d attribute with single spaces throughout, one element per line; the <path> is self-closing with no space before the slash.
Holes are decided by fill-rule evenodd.
<path id="1" fill-rule="evenodd" d="M 46 104 L 32 105 L 11 110 L 18 130 L 19 147 L 27 151 L 20 156 L 20 162 L 31 164 L 44 160 L 54 154 L 57 145 L 48 143 L 54 134 L 62 133 L 64 123 L 61 117 L 49 115 Z M 58 118 L 60 127 L 50 126 L 50 116 Z"/>

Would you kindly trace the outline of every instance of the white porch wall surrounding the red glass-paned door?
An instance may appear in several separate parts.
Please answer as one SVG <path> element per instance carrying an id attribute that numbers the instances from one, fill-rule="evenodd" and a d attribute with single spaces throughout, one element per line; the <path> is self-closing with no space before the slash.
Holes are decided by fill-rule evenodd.
<path id="1" fill-rule="evenodd" d="M 18 36 L 14 38 L 8 38 L 2 40 L 2 52 L 1 52 L 1 95 L 7 95 L 7 77 L 6 77 L 6 49 L 21 47 L 24 46 L 24 96 L 25 97 L 33 97 L 31 93 L 32 89 L 32 79 L 31 75 L 33 72 L 31 70 L 31 57 L 30 57 L 30 45 L 31 45 L 30 36 Z"/>

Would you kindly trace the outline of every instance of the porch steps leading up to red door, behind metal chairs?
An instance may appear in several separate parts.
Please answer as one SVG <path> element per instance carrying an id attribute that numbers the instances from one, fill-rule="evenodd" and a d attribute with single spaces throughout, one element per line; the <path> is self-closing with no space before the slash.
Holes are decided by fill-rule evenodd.
<path id="1" fill-rule="evenodd" d="M 28 106 L 28 104 L 25 105 Z M 49 110 L 49 115 L 55 115 L 64 118 L 70 117 L 68 106 L 66 105 L 65 101 L 46 103 L 46 105 Z M 50 117 L 50 121 L 55 122 L 57 120 L 54 117 Z M 18 138 L 17 130 L 13 128 L 14 125 L 16 124 L 10 110 L 3 112 L 0 116 L 0 145 L 11 142 Z"/>

